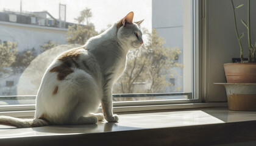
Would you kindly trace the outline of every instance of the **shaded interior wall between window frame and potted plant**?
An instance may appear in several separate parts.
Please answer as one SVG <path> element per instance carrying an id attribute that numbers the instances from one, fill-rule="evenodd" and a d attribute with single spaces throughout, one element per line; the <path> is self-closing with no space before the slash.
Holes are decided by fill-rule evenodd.
<path id="1" fill-rule="evenodd" d="M 226 91 L 221 85 L 213 83 L 225 83 L 224 63 L 231 63 L 232 58 L 240 57 L 240 48 L 235 35 L 235 26 L 233 21 L 232 4 L 230 1 L 207 0 L 207 83 L 206 100 L 208 102 L 226 101 Z M 247 32 L 240 19 L 247 21 L 247 1 L 235 0 L 235 5 L 244 3 L 241 9 L 236 10 L 238 20 L 238 30 Z M 256 41 L 256 1 L 251 1 L 251 35 L 252 43 Z M 247 50 L 247 35 L 243 38 L 244 50 Z M 247 51 L 244 52 L 247 57 Z"/>

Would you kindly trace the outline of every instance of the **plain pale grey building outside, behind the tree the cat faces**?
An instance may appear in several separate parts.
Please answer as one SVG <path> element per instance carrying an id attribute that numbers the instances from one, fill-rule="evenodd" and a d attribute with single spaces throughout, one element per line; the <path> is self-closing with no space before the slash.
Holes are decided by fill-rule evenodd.
<path id="1" fill-rule="evenodd" d="M 165 38 L 165 47 L 179 47 L 182 54 L 179 55 L 180 64 L 183 63 L 183 1 L 180 0 L 152 0 L 152 28 L 158 35 Z M 168 18 L 165 18 L 168 16 Z M 174 83 L 166 91 L 183 92 L 183 69 L 174 68 L 174 77 L 166 76 L 166 80 Z"/>

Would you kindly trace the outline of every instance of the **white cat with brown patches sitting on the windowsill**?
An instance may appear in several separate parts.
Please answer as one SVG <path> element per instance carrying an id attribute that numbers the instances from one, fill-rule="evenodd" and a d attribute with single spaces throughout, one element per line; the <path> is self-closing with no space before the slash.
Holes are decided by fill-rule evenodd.
<path id="1" fill-rule="evenodd" d="M 127 52 L 143 45 L 142 22 L 133 22 L 130 12 L 84 46 L 60 54 L 41 80 L 34 119 L 0 116 L 0 124 L 27 128 L 94 124 L 104 118 L 118 122 L 112 109 L 112 86 L 126 68 Z M 100 104 L 103 114 L 91 114 Z"/>

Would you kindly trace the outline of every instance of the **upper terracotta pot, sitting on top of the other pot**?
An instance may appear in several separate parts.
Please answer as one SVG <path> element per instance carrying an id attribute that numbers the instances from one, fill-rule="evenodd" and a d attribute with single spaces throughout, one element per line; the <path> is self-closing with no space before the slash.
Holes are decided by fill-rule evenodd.
<path id="1" fill-rule="evenodd" d="M 256 83 L 256 63 L 224 64 L 227 83 Z"/>

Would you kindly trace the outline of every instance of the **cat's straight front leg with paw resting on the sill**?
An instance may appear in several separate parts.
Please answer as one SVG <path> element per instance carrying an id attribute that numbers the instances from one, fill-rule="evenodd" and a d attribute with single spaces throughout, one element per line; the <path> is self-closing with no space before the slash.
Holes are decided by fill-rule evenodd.
<path id="1" fill-rule="evenodd" d="M 113 114 L 112 89 L 105 90 L 101 106 L 104 117 L 108 122 L 118 122 L 118 116 Z"/>

